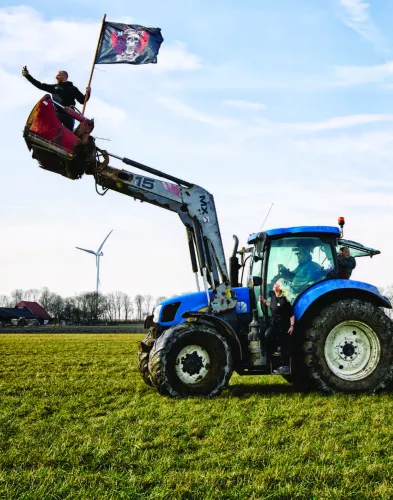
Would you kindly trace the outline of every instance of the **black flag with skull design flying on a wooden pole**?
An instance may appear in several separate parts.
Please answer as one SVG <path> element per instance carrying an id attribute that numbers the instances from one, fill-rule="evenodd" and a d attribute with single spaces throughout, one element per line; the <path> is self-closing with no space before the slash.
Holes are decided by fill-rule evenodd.
<path id="1" fill-rule="evenodd" d="M 94 63 L 156 63 L 163 41 L 160 28 L 105 22 Z"/>

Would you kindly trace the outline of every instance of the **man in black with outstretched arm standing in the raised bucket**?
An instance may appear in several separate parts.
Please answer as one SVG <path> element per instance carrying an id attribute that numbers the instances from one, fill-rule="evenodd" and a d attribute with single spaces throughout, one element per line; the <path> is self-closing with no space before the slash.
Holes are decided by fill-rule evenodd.
<path id="1" fill-rule="evenodd" d="M 54 84 L 39 82 L 30 75 L 26 66 L 22 69 L 22 75 L 38 89 L 52 94 L 53 100 L 62 106 L 75 106 L 75 100 L 77 100 L 80 104 L 83 104 L 85 102 L 85 98 L 87 100 L 90 99 L 91 88 L 87 87 L 86 94 L 83 95 L 72 82 L 68 81 L 67 71 L 58 71 L 56 75 L 57 83 Z M 65 113 L 61 108 L 56 108 L 56 115 L 65 127 L 71 131 L 74 130 L 75 120 L 72 116 L 67 115 L 67 113 Z"/>

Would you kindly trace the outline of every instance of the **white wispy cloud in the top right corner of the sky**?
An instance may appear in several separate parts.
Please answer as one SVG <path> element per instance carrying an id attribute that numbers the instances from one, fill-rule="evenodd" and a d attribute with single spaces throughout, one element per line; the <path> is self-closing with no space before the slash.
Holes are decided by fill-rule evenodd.
<path id="1" fill-rule="evenodd" d="M 381 32 L 370 16 L 370 4 L 365 0 L 339 0 L 341 7 L 340 19 L 362 38 L 372 43 L 382 52 L 389 51 L 389 47 Z"/>

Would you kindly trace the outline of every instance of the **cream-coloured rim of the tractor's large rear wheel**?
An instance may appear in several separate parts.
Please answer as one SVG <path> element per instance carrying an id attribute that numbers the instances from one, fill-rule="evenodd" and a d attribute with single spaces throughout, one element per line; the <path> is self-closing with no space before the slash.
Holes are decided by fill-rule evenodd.
<path id="1" fill-rule="evenodd" d="M 324 349 L 331 371 L 344 380 L 362 380 L 378 366 L 381 345 L 372 328 L 360 321 L 344 321 L 327 336 Z"/>

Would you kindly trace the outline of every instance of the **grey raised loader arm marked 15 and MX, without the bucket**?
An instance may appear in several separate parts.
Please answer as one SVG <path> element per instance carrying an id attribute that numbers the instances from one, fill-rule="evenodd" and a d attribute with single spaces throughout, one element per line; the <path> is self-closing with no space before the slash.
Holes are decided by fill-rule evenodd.
<path id="1" fill-rule="evenodd" d="M 97 168 L 96 182 L 134 199 L 176 212 L 186 226 L 194 273 L 199 272 L 209 304 L 209 311 L 218 314 L 236 306 L 236 296 L 230 286 L 220 227 L 213 196 L 205 189 L 165 174 L 141 163 L 102 151 L 127 165 L 154 174 L 161 179 L 139 175 L 108 165 Z M 168 182 L 172 181 L 172 182 Z M 198 280 L 197 280 L 198 282 Z M 209 290 L 208 282 L 211 285 Z"/>

